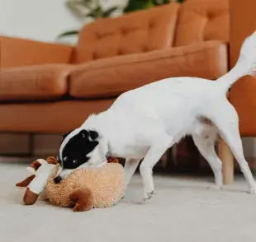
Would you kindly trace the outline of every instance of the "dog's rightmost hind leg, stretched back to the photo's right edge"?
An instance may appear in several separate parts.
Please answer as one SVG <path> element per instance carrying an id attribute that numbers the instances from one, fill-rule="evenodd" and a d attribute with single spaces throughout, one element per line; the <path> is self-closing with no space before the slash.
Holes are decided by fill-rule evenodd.
<path id="1" fill-rule="evenodd" d="M 239 135 L 239 118 L 235 108 L 226 101 L 218 105 L 218 114 L 213 115 L 211 120 L 219 129 L 220 136 L 230 147 L 236 161 L 239 163 L 245 179 L 249 185 L 249 193 L 256 193 L 256 184 L 249 165 L 244 158 L 241 137 Z"/>

